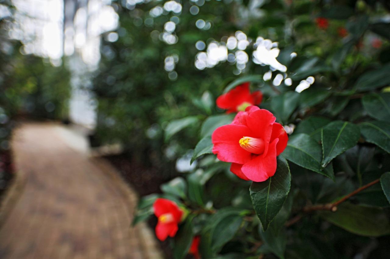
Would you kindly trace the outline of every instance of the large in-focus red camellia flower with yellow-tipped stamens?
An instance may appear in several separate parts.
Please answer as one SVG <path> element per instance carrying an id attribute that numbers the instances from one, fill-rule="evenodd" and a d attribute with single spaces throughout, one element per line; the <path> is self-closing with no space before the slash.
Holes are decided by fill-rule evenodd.
<path id="1" fill-rule="evenodd" d="M 249 106 L 233 122 L 213 132 L 213 153 L 231 162 L 230 171 L 244 180 L 263 182 L 276 171 L 276 157 L 287 146 L 287 133 L 268 110 Z"/>

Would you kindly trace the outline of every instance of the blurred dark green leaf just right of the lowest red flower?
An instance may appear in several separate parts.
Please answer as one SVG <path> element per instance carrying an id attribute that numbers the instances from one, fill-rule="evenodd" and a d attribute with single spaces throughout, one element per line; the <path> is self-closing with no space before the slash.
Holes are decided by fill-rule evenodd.
<path id="1" fill-rule="evenodd" d="M 232 240 L 243 222 L 241 211 L 226 207 L 207 219 L 200 238 L 202 257 L 214 258 L 223 245 Z"/>

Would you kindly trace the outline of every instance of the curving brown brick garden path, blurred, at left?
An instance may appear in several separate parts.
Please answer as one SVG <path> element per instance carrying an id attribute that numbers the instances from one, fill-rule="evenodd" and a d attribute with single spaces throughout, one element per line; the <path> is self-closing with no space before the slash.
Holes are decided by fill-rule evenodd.
<path id="1" fill-rule="evenodd" d="M 73 134 L 53 123 L 14 132 L 19 191 L 2 208 L 0 258 L 161 258 L 145 225 L 129 228 L 132 189 Z"/>

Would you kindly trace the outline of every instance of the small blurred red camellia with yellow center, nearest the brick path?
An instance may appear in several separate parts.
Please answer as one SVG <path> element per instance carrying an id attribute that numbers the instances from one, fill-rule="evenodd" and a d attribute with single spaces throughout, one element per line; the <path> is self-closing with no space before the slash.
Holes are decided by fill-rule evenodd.
<path id="1" fill-rule="evenodd" d="M 164 241 L 168 236 L 174 237 L 183 211 L 173 201 L 162 198 L 154 201 L 153 209 L 154 215 L 158 218 L 156 226 L 157 238 Z"/>

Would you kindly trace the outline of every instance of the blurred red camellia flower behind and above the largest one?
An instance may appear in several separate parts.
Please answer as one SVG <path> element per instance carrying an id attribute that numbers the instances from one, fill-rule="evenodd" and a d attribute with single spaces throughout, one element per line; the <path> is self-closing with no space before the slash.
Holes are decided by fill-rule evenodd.
<path id="1" fill-rule="evenodd" d="M 263 99 L 261 91 L 249 91 L 249 82 L 240 84 L 217 98 L 217 106 L 226 109 L 227 113 L 244 111 L 250 105 L 258 105 Z"/>

